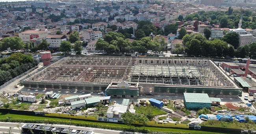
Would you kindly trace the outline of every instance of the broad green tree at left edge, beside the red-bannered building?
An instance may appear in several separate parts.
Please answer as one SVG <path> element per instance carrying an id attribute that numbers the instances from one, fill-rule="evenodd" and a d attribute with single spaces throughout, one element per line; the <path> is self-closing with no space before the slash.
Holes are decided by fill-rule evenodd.
<path id="1" fill-rule="evenodd" d="M 20 48 L 24 48 L 24 42 L 20 37 L 6 37 L 0 42 L 1 50 L 7 50 L 7 48 L 11 48 L 11 50 L 19 50 Z"/>

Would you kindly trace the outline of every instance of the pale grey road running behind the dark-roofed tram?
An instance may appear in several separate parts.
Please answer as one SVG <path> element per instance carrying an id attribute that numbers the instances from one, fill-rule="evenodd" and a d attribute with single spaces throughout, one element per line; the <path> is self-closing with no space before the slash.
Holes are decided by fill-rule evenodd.
<path id="1" fill-rule="evenodd" d="M 21 126 L 24 124 L 25 123 L 0 122 L 0 132 L 11 132 L 14 134 L 20 134 Z M 70 125 L 48 125 L 48 124 L 41 124 L 41 125 L 71 128 L 76 130 L 90 130 L 90 131 L 93 131 L 95 134 L 122 134 L 122 131 L 100 129 L 100 128 L 76 127 L 76 126 L 70 126 Z M 139 134 L 139 133 L 135 133 L 135 134 Z"/>

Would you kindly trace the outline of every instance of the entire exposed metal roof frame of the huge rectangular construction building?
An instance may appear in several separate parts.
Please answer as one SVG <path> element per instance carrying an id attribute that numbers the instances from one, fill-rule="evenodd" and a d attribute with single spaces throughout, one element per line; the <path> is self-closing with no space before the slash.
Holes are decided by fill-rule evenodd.
<path id="1" fill-rule="evenodd" d="M 159 57 L 65 57 L 25 81 L 234 87 L 211 61 Z"/>

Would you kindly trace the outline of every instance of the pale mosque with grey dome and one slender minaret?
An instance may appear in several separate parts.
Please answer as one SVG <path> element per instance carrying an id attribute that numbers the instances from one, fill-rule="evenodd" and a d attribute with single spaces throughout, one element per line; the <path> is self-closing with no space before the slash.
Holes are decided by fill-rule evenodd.
<path id="1" fill-rule="evenodd" d="M 243 20 L 243 16 L 241 16 L 239 20 L 238 28 L 232 31 L 239 34 L 239 44 L 238 44 L 239 46 L 245 46 L 246 44 L 250 44 L 251 42 L 256 42 L 256 37 L 254 37 L 250 33 L 247 33 L 245 29 L 241 28 L 242 20 Z"/>

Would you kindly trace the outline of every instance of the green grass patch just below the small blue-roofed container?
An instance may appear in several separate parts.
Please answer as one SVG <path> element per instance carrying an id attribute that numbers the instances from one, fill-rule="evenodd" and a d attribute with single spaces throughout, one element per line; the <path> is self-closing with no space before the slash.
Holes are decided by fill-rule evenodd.
<path id="1" fill-rule="evenodd" d="M 139 108 L 137 106 L 134 106 L 134 109 L 136 110 L 136 114 L 145 114 L 145 112 L 151 112 L 154 116 L 167 114 L 167 112 L 164 112 L 156 106 L 151 105 L 140 106 Z"/>

